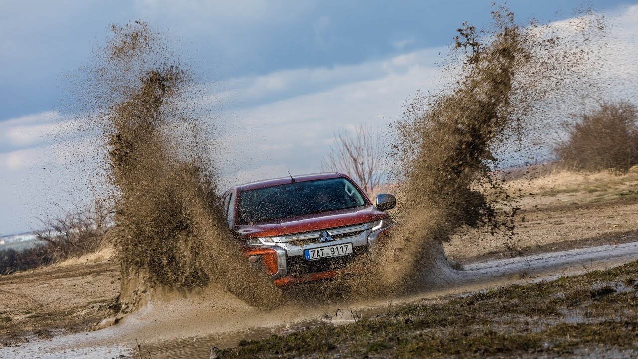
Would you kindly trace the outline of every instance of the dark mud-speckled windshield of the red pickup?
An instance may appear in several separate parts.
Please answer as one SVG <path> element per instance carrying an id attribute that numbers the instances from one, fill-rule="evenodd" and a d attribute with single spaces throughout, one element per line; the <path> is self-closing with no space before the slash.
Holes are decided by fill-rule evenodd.
<path id="1" fill-rule="evenodd" d="M 290 183 L 239 194 L 238 223 L 253 224 L 365 204 L 357 187 L 345 178 Z"/>

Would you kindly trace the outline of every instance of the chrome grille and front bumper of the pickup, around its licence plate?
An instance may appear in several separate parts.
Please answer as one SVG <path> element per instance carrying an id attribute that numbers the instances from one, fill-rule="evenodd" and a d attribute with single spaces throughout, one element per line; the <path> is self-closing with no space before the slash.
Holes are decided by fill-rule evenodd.
<path id="1" fill-rule="evenodd" d="M 357 257 L 366 254 L 371 248 L 376 247 L 391 233 L 394 224 L 373 230 L 373 224 L 366 223 L 328 229 L 334 241 L 317 243 L 316 238 L 322 231 L 316 233 L 292 234 L 273 238 L 276 246 L 246 247 L 247 257 L 255 256 L 268 250 L 272 258 L 276 258 L 276 266 L 272 261 L 268 268 L 262 268 L 270 274 L 274 284 L 286 286 L 314 280 L 332 279 L 341 273 L 351 273 L 348 264 Z M 324 257 L 313 261 L 304 259 L 304 250 L 320 248 L 331 245 L 352 243 L 353 253 L 344 256 Z"/>

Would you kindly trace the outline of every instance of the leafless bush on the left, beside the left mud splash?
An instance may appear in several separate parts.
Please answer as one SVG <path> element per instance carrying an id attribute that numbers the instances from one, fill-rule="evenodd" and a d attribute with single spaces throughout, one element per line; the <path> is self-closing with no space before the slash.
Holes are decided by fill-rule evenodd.
<path id="1" fill-rule="evenodd" d="M 104 245 L 112 212 L 110 202 L 94 197 L 87 206 L 40 220 L 42 229 L 35 235 L 47 243 L 54 261 L 96 252 Z"/>

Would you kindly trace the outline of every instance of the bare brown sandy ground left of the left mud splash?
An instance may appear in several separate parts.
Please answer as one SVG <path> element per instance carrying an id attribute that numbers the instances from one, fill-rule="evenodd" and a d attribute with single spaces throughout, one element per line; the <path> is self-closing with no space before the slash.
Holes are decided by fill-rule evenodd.
<path id="1" fill-rule="evenodd" d="M 119 266 L 110 256 L 107 250 L 0 276 L 0 343 L 89 330 L 108 316 L 119 291 Z"/>

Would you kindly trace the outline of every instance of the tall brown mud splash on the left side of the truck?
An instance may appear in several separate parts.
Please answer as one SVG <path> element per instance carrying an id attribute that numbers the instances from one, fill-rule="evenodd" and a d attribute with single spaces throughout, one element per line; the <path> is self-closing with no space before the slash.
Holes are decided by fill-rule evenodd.
<path id="1" fill-rule="evenodd" d="M 249 303 L 277 303 L 278 291 L 246 266 L 221 217 L 206 124 L 187 95 L 189 71 L 143 22 L 112 26 L 96 63 L 88 91 L 108 147 L 124 310 L 149 292 L 210 282 Z"/>

